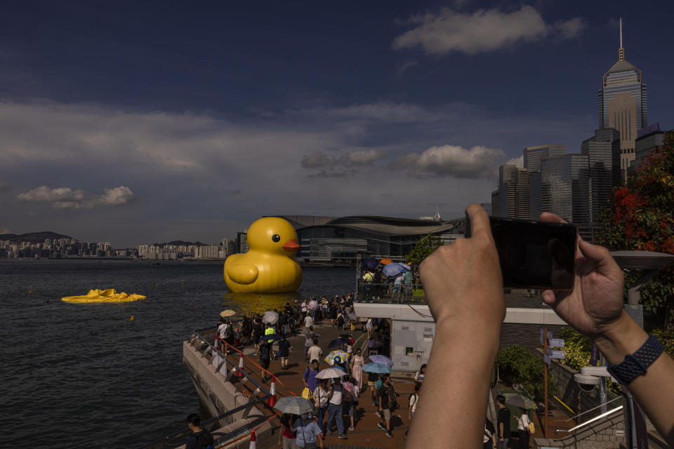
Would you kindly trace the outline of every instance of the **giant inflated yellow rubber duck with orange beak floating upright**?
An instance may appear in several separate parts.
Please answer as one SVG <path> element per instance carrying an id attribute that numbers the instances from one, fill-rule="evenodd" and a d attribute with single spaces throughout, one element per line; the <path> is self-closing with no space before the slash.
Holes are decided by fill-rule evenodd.
<path id="1" fill-rule="evenodd" d="M 248 253 L 225 260 L 225 282 L 234 293 L 286 293 L 299 288 L 297 233 L 283 218 L 265 217 L 248 229 Z"/>

